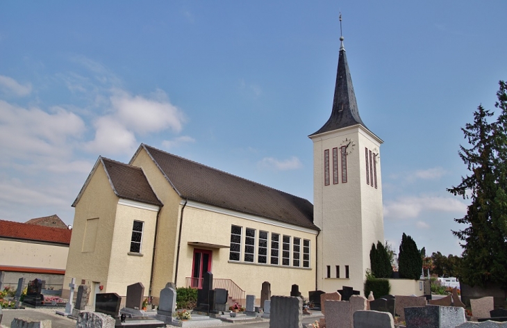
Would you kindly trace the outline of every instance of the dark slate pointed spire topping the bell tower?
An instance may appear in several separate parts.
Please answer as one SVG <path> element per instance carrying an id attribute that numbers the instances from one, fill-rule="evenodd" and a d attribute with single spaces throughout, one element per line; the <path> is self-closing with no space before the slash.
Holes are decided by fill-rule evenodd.
<path id="1" fill-rule="evenodd" d="M 340 29 L 341 18 L 340 14 Z M 359 116 L 358 104 L 356 102 L 356 95 L 354 94 L 354 86 L 352 86 L 343 40 L 343 36 L 340 36 L 340 56 L 338 58 L 338 72 L 336 74 L 335 97 L 333 99 L 331 117 L 329 117 L 329 120 L 327 120 L 326 124 L 324 124 L 319 131 L 310 134 L 310 136 L 356 124 L 361 124 L 366 127 Z"/>

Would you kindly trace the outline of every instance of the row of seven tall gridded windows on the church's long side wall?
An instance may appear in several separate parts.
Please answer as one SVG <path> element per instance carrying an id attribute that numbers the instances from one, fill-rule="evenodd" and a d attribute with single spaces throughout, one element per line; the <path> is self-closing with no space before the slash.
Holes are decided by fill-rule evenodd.
<path id="1" fill-rule="evenodd" d="M 241 261 L 242 231 L 242 227 L 231 226 L 230 261 Z M 244 262 L 268 264 L 267 260 L 269 259 L 269 264 L 271 265 L 281 264 L 290 266 L 292 259 L 293 267 L 310 268 L 310 240 L 303 239 L 301 248 L 301 238 L 298 237 L 291 238 L 291 236 L 281 236 L 279 233 L 271 233 L 271 242 L 269 243 L 269 232 L 267 231 L 259 231 L 258 238 L 256 238 L 256 229 L 246 228 L 244 231 Z M 256 241 L 257 261 L 255 261 Z"/>

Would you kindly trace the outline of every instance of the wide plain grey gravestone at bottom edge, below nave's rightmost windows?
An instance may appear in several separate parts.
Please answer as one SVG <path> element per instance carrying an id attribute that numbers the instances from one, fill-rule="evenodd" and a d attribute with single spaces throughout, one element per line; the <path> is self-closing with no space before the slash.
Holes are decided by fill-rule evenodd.
<path id="1" fill-rule="evenodd" d="M 303 300 L 300 297 L 272 296 L 269 328 L 303 327 Z"/>

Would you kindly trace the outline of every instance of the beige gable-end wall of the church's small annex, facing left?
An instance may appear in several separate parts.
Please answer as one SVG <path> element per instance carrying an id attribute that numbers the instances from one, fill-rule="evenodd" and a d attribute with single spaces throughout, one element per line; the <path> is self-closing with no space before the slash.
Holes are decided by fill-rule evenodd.
<path id="1" fill-rule="evenodd" d="M 85 279 L 89 288 L 94 286 L 94 283 L 103 286 L 108 284 L 118 197 L 113 192 L 100 162 L 97 170 L 91 174 L 88 186 L 75 208 L 63 282 L 64 297 L 69 293 L 69 283 L 73 277 L 76 278 L 76 284 L 81 284 L 81 280 Z"/>

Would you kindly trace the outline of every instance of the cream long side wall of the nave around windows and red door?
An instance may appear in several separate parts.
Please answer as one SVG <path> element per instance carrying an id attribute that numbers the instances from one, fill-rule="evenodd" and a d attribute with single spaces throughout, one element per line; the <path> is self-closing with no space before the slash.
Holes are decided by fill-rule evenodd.
<path id="1" fill-rule="evenodd" d="M 185 278 L 192 276 L 194 249 L 209 249 L 213 251 L 213 277 L 215 279 L 233 280 L 235 284 L 245 290 L 245 295 L 256 295 L 256 298 L 260 298 L 260 289 L 262 288 L 263 281 L 269 281 L 271 284 L 272 295 L 290 295 L 292 284 L 299 285 L 299 290 L 304 297 L 308 297 L 308 290 L 315 290 L 315 236 L 317 231 L 304 228 L 291 229 L 290 227 L 279 227 L 274 224 L 257 222 L 247 218 L 238 218 L 238 216 L 235 216 L 233 213 L 228 211 L 224 213 L 224 211 L 220 209 L 217 211 L 221 213 L 213 212 L 211 206 L 208 206 L 208 208 L 212 208 L 210 211 L 203 208 L 193 208 L 192 205 L 193 204 L 188 204 L 183 214 L 183 231 L 181 236 L 181 254 L 177 286 L 185 286 Z M 229 248 L 219 249 L 188 245 L 189 242 L 201 242 L 226 245 L 228 247 L 231 242 L 231 225 L 242 227 L 241 259 L 244 259 L 245 229 L 250 228 L 256 229 L 256 260 L 258 255 L 258 232 L 267 231 L 269 232 L 269 247 L 271 233 L 279 233 L 281 236 L 295 236 L 301 238 L 301 243 L 303 239 L 310 240 L 310 268 L 292 268 L 283 267 L 281 265 L 229 261 Z M 268 255 L 270 254 L 269 247 L 267 250 Z M 292 248 L 290 261 L 292 264 Z"/>

